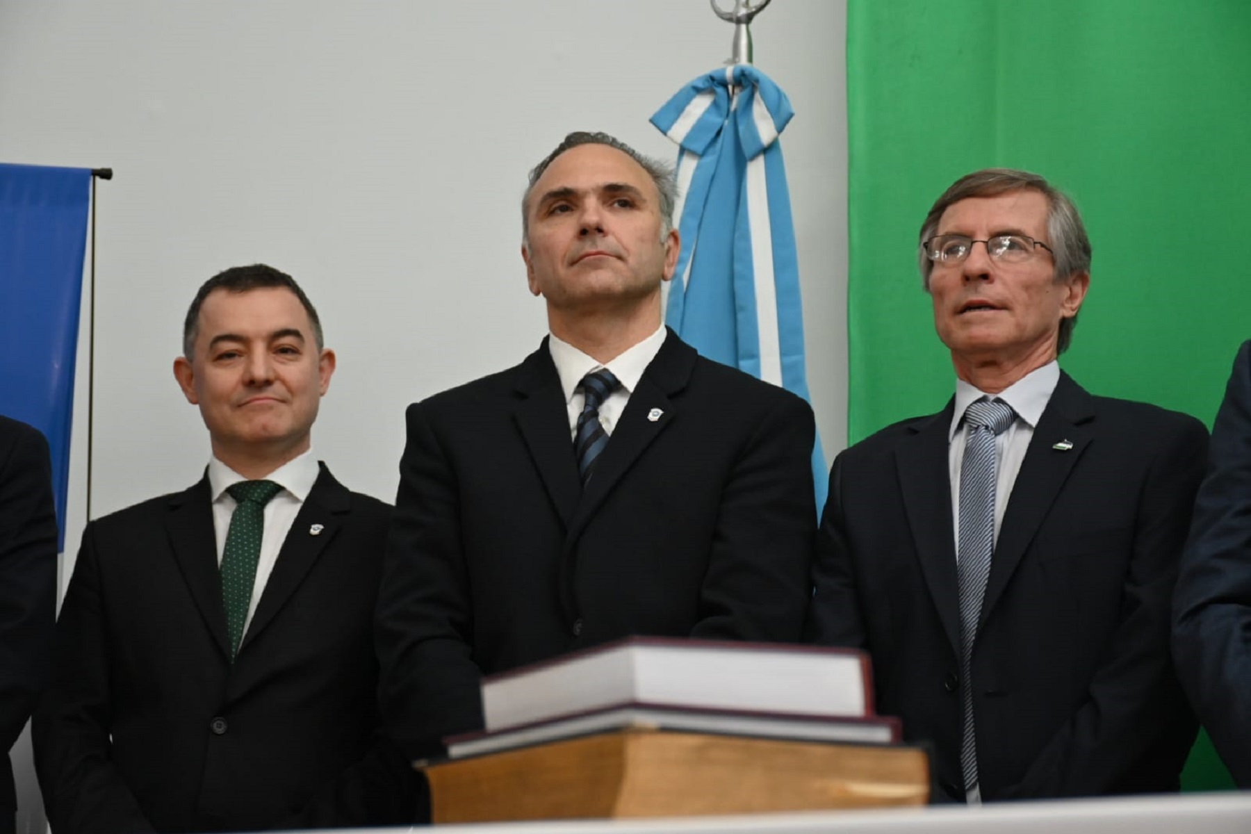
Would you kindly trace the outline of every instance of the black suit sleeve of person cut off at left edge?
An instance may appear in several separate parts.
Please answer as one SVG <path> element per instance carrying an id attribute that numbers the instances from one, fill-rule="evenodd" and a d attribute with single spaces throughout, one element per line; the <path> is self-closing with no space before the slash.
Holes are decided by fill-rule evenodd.
<path id="1" fill-rule="evenodd" d="M 30 718 L 48 678 L 56 616 L 56 508 L 48 441 L 0 416 L 0 750 Z M 13 764 L 0 755 L 0 813 L 18 808 Z"/>

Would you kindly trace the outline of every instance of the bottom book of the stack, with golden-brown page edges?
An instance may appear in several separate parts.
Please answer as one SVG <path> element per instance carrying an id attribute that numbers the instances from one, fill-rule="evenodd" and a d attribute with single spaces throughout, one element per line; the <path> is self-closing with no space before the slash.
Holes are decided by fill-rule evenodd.
<path id="1" fill-rule="evenodd" d="M 623 730 L 424 768 L 435 823 L 922 805 L 918 748 Z"/>

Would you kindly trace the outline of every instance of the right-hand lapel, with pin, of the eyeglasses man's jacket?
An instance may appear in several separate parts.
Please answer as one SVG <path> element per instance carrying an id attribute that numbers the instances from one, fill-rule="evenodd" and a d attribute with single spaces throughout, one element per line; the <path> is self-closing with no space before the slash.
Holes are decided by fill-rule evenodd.
<path id="1" fill-rule="evenodd" d="M 1090 445 L 1093 416 L 1093 398 L 1068 374 L 1062 373 L 1047 408 L 1038 418 L 1008 498 L 1000 539 L 995 545 L 995 558 L 991 560 L 991 575 L 986 581 L 980 624 L 986 623 L 1003 595 L 1021 556 L 1033 541 L 1070 473 Z M 1055 448 L 1056 444 L 1062 448 Z"/>

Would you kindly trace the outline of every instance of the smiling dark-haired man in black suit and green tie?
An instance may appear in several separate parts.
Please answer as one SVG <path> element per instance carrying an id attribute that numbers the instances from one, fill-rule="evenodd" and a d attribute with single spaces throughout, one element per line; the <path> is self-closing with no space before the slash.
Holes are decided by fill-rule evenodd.
<path id="1" fill-rule="evenodd" d="M 34 721 L 56 834 L 409 823 L 378 735 L 372 620 L 388 505 L 311 453 L 335 369 L 308 296 L 205 283 L 174 375 L 213 454 L 190 489 L 91 521 Z"/>

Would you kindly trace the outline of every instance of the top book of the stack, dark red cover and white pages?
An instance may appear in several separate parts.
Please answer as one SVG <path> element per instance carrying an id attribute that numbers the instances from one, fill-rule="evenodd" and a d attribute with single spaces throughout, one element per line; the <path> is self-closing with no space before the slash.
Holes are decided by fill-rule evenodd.
<path id="1" fill-rule="evenodd" d="M 871 680 L 854 649 L 628 638 L 490 675 L 482 703 L 488 733 L 631 703 L 864 718 Z"/>

